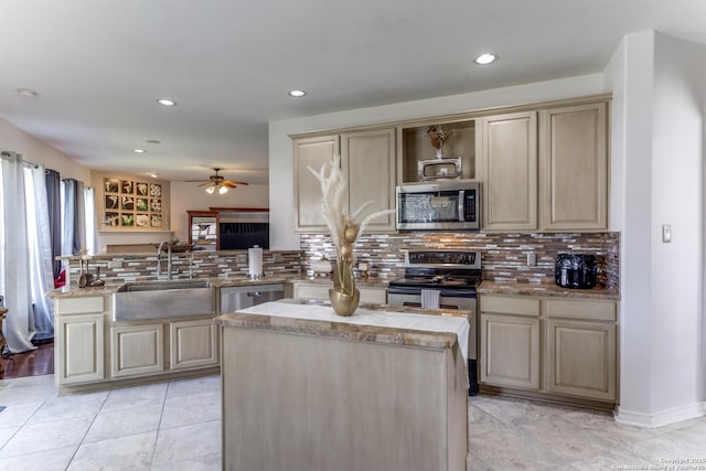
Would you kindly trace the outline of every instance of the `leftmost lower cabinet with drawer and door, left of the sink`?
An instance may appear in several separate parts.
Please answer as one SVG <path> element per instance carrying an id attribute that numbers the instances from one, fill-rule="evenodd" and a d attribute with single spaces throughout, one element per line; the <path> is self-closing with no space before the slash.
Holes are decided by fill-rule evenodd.
<path id="1" fill-rule="evenodd" d="M 103 297 L 54 300 L 56 313 L 54 370 L 57 385 L 105 377 Z"/>

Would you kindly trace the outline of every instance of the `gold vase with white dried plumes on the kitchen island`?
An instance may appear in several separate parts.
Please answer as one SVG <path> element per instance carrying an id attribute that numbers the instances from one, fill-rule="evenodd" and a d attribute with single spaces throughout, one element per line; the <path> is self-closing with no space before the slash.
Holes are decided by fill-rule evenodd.
<path id="1" fill-rule="evenodd" d="M 339 315 L 351 315 L 357 308 L 361 292 L 355 288 L 353 276 L 353 244 L 363 233 L 367 223 L 374 217 L 394 213 L 395 210 L 379 211 L 368 214 L 362 221 L 359 218 L 373 201 L 361 205 L 352 215 L 345 212 L 347 184 L 341 172 L 341 156 L 334 156 L 331 163 L 321 165 L 317 172 L 311 167 L 309 171 L 321 183 L 321 214 L 331 231 L 331 238 L 335 247 L 336 264 L 333 275 L 333 289 L 329 290 L 329 299 L 333 310 Z"/>

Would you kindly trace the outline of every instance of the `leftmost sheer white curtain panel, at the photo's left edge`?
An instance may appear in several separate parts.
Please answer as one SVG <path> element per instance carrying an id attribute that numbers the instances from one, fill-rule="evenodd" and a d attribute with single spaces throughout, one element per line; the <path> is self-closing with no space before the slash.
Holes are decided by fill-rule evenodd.
<path id="1" fill-rule="evenodd" d="M 31 261 L 25 217 L 24 164 L 21 157 L 13 152 L 3 152 L 0 161 L 2 162 L 0 292 L 4 293 L 6 306 L 10 310 L 4 322 L 4 334 L 11 352 L 26 352 L 35 349 L 31 343 L 35 329 L 29 289 Z"/>

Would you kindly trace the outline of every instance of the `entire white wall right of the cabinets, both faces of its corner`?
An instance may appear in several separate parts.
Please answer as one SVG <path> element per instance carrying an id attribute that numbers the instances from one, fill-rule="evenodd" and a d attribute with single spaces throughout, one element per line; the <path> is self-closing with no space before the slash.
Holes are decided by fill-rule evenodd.
<path id="1" fill-rule="evenodd" d="M 606 68 L 611 224 L 622 232 L 622 422 L 654 427 L 704 414 L 705 66 L 704 46 L 643 32 L 625 36 Z"/>

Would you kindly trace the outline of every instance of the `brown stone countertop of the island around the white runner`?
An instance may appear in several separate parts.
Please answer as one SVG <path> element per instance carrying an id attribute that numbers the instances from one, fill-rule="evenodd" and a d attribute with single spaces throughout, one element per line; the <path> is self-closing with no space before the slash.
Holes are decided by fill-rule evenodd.
<path id="1" fill-rule="evenodd" d="M 300 300 L 280 300 L 278 302 L 327 306 L 325 302 Z M 368 304 L 361 304 L 359 309 L 360 308 L 371 311 L 431 314 L 440 317 L 468 317 L 470 313 L 469 311 L 459 310 L 421 310 L 415 308 L 395 308 L 389 306 Z M 355 317 L 355 313 L 353 313 L 353 317 Z M 234 312 L 216 317 L 215 323 L 224 328 L 269 330 L 282 333 L 320 335 L 362 342 L 413 345 L 431 349 L 450 349 L 454 343 L 457 343 L 457 335 L 451 332 L 432 332 L 391 327 L 353 324 L 345 322 L 346 319 L 347 318 L 341 317 L 339 321 L 339 318 L 335 318 L 335 314 L 333 314 L 332 320 L 310 320 Z"/>

